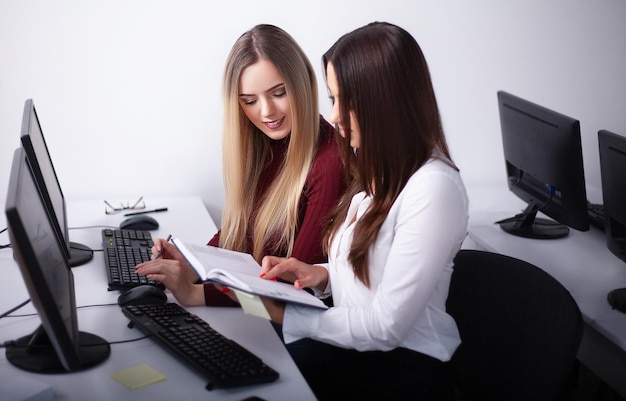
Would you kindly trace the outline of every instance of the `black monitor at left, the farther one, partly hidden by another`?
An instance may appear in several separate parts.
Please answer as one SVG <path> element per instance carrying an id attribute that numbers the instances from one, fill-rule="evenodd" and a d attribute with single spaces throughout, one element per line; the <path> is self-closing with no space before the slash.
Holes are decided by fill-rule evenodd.
<path id="1" fill-rule="evenodd" d="M 93 258 L 91 248 L 71 242 L 67 222 L 65 197 L 52 164 L 52 158 L 41 130 L 41 124 L 32 99 L 26 100 L 22 116 L 21 141 L 31 165 L 45 206 L 54 217 L 53 229 L 63 241 L 62 250 L 70 266 L 80 266 Z"/>

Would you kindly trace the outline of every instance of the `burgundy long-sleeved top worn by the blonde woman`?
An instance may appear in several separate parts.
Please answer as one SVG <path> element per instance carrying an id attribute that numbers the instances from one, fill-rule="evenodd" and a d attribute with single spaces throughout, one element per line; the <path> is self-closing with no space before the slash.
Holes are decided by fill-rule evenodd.
<path id="1" fill-rule="evenodd" d="M 276 177 L 289 146 L 289 137 L 272 141 L 271 146 L 274 157 L 261 173 L 255 202 L 263 197 L 269 184 Z M 330 210 L 337 205 L 344 189 L 343 164 L 335 141 L 335 130 L 320 116 L 320 146 L 311 165 L 300 200 L 300 225 L 296 232 L 293 257 L 310 264 L 326 262 L 322 251 L 322 222 Z M 219 239 L 220 232 L 218 231 L 208 245 L 219 246 Z M 248 241 L 250 253 L 252 253 L 251 242 Z M 271 244 L 268 244 L 264 251 L 266 255 L 281 255 L 282 253 L 272 249 Z M 210 306 L 238 305 L 212 284 L 204 285 L 204 298 L 205 303 Z"/>

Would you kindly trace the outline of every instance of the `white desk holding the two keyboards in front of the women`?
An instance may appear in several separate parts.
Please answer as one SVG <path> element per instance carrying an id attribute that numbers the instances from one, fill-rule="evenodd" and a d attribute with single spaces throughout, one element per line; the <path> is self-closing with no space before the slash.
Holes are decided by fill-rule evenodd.
<path id="1" fill-rule="evenodd" d="M 168 207 L 167 212 L 151 214 L 160 227 L 153 238 L 168 234 L 195 243 L 206 243 L 216 232 L 215 224 L 199 198 L 146 199 L 147 208 Z M 70 227 L 93 225 L 117 226 L 123 213 L 106 216 L 104 203 L 68 202 Z M 4 215 L 1 219 L 4 224 Z M 101 250 L 101 227 L 70 230 L 73 242 Z M 2 234 L 0 243 L 8 242 Z M 6 240 L 5 240 L 6 239 Z M 4 312 L 29 298 L 17 264 L 10 249 L 0 250 L 0 312 Z M 115 304 L 118 291 L 107 290 L 107 278 L 102 252 L 83 266 L 72 269 L 75 279 L 77 306 Z M 171 297 L 171 294 L 170 294 Z M 172 301 L 175 301 L 171 298 Z M 111 355 L 102 364 L 90 370 L 64 374 L 37 374 L 19 370 L 11 365 L 4 350 L 0 356 L 0 382 L 13 377 L 28 377 L 47 383 L 54 389 L 55 400 L 243 400 L 256 395 L 266 400 L 315 400 L 284 345 L 269 321 L 249 316 L 241 308 L 192 307 L 187 308 L 206 320 L 225 336 L 248 348 L 280 373 L 278 381 L 269 384 L 235 389 L 205 390 L 206 379 L 184 365 L 153 340 L 111 345 Z M 14 314 L 33 313 L 28 304 Z M 81 331 L 97 334 L 109 342 L 138 338 L 138 329 L 129 329 L 128 320 L 117 305 L 80 308 L 78 324 Z M 14 340 L 30 334 L 39 325 L 39 317 L 7 317 L 0 319 L 0 341 Z M 163 382 L 130 390 L 111 378 L 111 373 L 146 363 L 167 376 Z M 2 398 L 2 397 L 0 397 Z"/>

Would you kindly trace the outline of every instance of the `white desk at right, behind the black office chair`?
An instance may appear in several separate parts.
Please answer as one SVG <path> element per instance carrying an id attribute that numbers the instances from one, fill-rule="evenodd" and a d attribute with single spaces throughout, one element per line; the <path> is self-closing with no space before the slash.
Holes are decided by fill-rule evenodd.
<path id="1" fill-rule="evenodd" d="M 464 246 L 525 260 L 559 280 L 578 303 L 585 321 L 578 359 L 626 396 L 626 314 L 613 310 L 606 298 L 610 290 L 626 287 L 626 263 L 608 250 L 604 232 L 593 226 L 586 232 L 570 229 L 567 237 L 555 240 L 504 232 L 494 222 L 525 206 L 505 185 L 468 191 L 472 206 Z"/>

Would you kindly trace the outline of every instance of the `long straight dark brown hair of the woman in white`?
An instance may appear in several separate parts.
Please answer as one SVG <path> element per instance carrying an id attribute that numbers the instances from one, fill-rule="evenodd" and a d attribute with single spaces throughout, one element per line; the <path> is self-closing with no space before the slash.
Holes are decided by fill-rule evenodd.
<path id="1" fill-rule="evenodd" d="M 406 30 L 373 22 L 342 36 L 323 56 L 332 63 L 341 98 L 339 138 L 346 174 L 352 183 L 331 215 L 324 244 L 345 220 L 354 194 L 365 191 L 372 202 L 357 222 L 349 261 L 369 286 L 368 255 L 391 206 L 409 178 L 430 157 L 451 166 L 437 100 L 426 59 Z M 350 148 L 350 113 L 360 129 L 360 147 Z M 326 248 L 328 250 L 328 248 Z"/>

